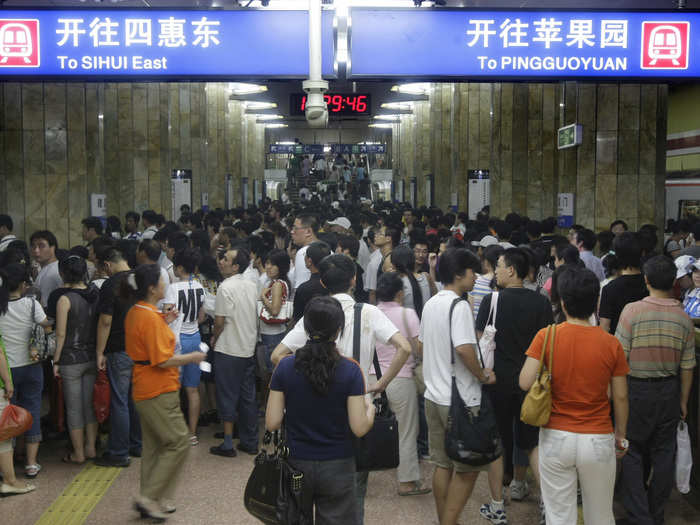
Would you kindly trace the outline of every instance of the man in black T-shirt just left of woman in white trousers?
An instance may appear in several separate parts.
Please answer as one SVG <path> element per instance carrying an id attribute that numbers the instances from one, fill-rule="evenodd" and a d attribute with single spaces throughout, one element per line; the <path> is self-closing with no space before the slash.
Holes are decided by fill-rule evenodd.
<path id="1" fill-rule="evenodd" d="M 525 363 L 525 351 L 535 334 L 553 322 L 552 307 L 546 297 L 523 287 L 529 272 L 529 259 L 524 250 L 509 248 L 496 265 L 498 293 L 496 326 L 496 352 L 493 370 L 498 378 L 495 385 L 484 387 L 490 396 L 496 413 L 498 429 L 503 440 L 504 458 L 499 458 L 489 468 L 492 486 L 503 483 L 504 474 L 513 477 L 512 492 L 526 493 L 526 467 L 518 467 L 513 473 L 513 442 L 528 452 L 530 466 L 539 485 L 537 444 L 539 429 L 520 421 L 520 407 L 525 397 L 518 385 L 520 369 Z M 481 337 L 488 322 L 493 295 L 481 302 L 476 320 L 476 335 Z M 488 366 L 488 365 L 486 365 Z M 504 463 L 505 461 L 505 463 Z M 505 471 L 505 472 L 504 472 Z M 500 494 L 492 497 L 500 499 Z M 542 511 L 544 510 L 541 506 Z M 497 522 L 505 518 L 503 501 L 493 499 L 482 505 L 480 513 L 486 519 Z"/>

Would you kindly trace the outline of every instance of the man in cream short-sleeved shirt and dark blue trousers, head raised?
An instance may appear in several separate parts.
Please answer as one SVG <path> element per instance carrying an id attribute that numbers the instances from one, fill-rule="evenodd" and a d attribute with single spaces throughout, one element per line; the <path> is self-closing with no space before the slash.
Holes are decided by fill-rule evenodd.
<path id="1" fill-rule="evenodd" d="M 211 347 L 215 352 L 216 405 L 224 423 L 224 441 L 211 447 L 216 456 L 234 457 L 233 424 L 238 425 L 238 450 L 258 453 L 258 407 L 255 401 L 255 345 L 258 340 L 257 284 L 244 279 L 250 264 L 244 248 L 228 250 L 219 259 L 224 281 L 216 292 L 216 318 Z"/>

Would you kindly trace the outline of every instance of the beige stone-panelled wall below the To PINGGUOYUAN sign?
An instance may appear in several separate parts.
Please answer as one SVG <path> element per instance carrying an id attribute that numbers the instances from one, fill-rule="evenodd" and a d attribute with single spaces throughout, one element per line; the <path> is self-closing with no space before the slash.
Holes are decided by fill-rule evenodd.
<path id="1" fill-rule="evenodd" d="M 541 219 L 557 213 L 557 193 L 574 193 L 575 220 L 601 230 L 621 218 L 662 226 L 667 126 L 666 85 L 433 84 L 428 102 L 394 126 L 394 168 L 435 176 L 434 202 L 457 194 L 467 208 L 467 172 L 488 169 L 494 215 Z M 583 144 L 557 150 L 559 127 L 583 125 Z"/>

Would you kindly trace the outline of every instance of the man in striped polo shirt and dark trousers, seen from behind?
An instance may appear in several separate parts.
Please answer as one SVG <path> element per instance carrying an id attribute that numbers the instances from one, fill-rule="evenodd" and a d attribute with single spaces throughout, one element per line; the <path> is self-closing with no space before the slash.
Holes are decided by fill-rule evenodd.
<path id="1" fill-rule="evenodd" d="M 696 364 L 693 322 L 672 295 L 675 274 L 669 257 L 649 259 L 644 265 L 649 297 L 625 306 L 615 332 L 630 365 L 630 448 L 622 459 L 622 490 L 635 525 L 664 522 L 674 483 L 676 427 L 688 413 Z M 651 466 L 654 475 L 645 490 Z"/>

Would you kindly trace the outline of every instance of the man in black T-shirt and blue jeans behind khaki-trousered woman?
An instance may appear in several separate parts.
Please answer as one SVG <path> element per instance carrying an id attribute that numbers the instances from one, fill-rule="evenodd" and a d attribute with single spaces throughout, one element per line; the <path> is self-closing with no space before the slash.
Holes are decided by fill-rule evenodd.
<path id="1" fill-rule="evenodd" d="M 134 362 L 126 353 L 124 319 L 131 304 L 119 297 L 119 288 L 129 276 L 124 255 L 114 247 L 97 254 L 109 279 L 100 289 L 97 304 L 97 367 L 109 377 L 109 441 L 107 450 L 95 458 L 97 465 L 128 467 L 129 455 L 141 455 L 141 425 L 131 396 Z"/>

